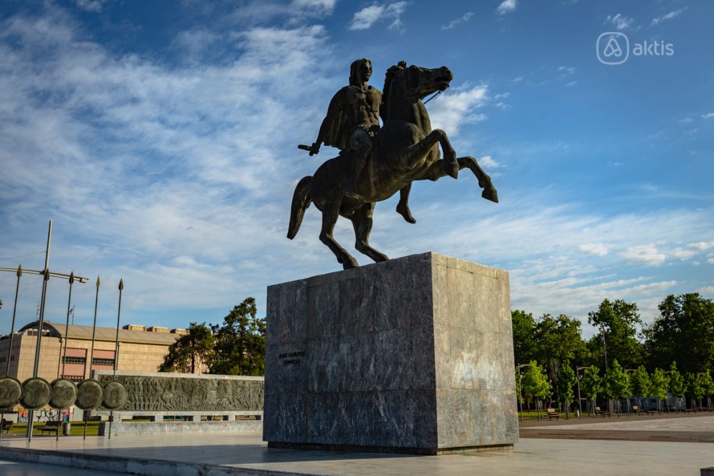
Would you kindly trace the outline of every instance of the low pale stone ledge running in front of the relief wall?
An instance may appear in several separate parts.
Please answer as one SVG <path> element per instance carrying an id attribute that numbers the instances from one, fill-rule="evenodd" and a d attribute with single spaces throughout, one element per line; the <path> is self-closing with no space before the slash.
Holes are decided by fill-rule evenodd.
<path id="1" fill-rule="evenodd" d="M 116 422 L 111 435 L 160 435 L 163 433 L 255 433 L 263 431 L 261 420 L 233 422 Z M 99 424 L 99 436 L 109 435 L 109 422 Z"/>

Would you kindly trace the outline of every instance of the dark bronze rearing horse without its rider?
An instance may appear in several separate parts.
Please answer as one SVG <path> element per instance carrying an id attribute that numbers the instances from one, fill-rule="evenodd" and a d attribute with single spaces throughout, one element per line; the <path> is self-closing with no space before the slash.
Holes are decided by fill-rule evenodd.
<path id="1" fill-rule="evenodd" d="M 491 178 L 473 157 L 456 157 L 446 133 L 431 130 L 431 122 L 423 98 L 444 91 L 453 79 L 446 66 L 438 69 L 419 66 L 392 66 L 387 72 L 382 107 L 386 107 L 384 126 L 374 138 L 367 165 L 358 177 L 356 191 L 360 198 L 344 196 L 348 180 L 350 153 L 344 153 L 323 163 L 313 176 L 298 182 L 293 193 L 288 238 L 298 233 L 303 215 L 310 206 L 322 212 L 320 240 L 325 243 L 344 269 L 356 268 L 357 261 L 333 238 L 337 218 L 352 221 L 355 248 L 375 261 L 386 261 L 387 255 L 369 245 L 372 214 L 378 201 L 386 200 L 415 180 L 436 181 L 444 176 L 458 177 L 458 171 L 468 168 L 483 188 L 481 196 L 498 203 L 498 193 Z M 440 158 L 439 147 L 443 151 Z"/>

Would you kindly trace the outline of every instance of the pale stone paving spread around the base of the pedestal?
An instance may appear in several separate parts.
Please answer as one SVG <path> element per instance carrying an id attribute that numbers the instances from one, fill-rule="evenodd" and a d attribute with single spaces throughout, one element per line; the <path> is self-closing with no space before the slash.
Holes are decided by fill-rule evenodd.
<path id="1" fill-rule="evenodd" d="M 34 460 L 32 459 L 34 458 Z M 416 456 L 268 449 L 261 435 L 139 435 L 6 440 L 0 459 L 151 476 L 699 475 L 707 443 L 524 439 L 513 451 Z"/>

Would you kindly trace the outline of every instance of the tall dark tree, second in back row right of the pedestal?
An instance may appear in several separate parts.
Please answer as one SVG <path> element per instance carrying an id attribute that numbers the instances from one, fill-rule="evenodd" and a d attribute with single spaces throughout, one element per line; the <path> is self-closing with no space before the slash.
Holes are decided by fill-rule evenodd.
<path id="1" fill-rule="evenodd" d="M 535 342 L 537 360 L 545 365 L 550 380 L 557 380 L 563 360 L 583 360 L 585 343 L 580 334 L 580 320 L 567 315 L 554 318 L 543 314 L 535 323 Z M 560 395 L 558 400 L 561 400 Z"/>

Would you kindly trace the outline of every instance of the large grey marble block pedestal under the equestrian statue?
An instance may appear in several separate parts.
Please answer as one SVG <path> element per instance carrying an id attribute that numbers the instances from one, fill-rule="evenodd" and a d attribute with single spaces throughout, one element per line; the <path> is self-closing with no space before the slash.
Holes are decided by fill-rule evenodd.
<path id="1" fill-rule="evenodd" d="M 268 287 L 263 440 L 411 452 L 518 441 L 508 273 L 438 253 Z"/>

